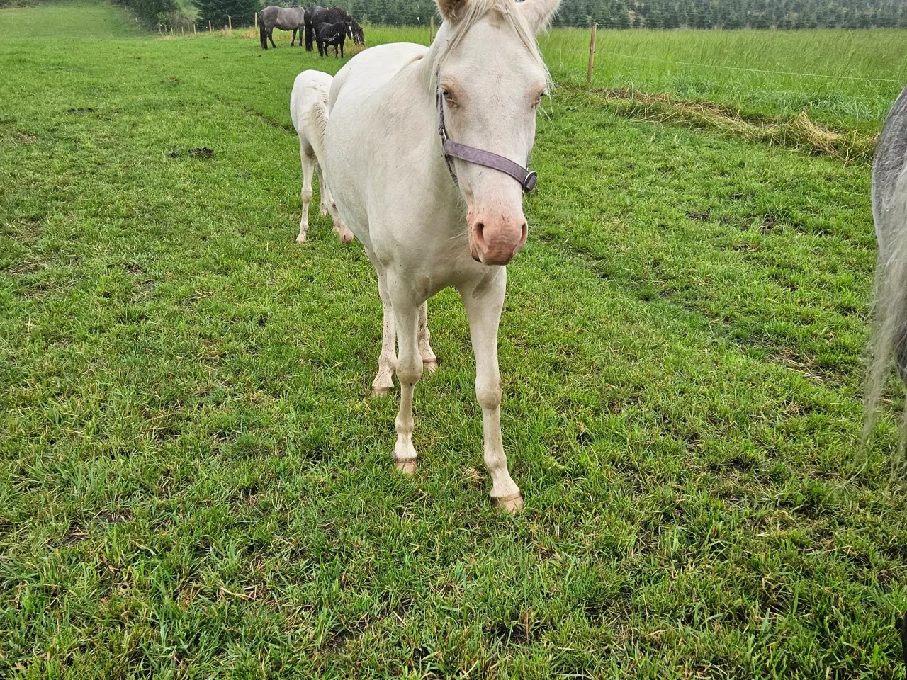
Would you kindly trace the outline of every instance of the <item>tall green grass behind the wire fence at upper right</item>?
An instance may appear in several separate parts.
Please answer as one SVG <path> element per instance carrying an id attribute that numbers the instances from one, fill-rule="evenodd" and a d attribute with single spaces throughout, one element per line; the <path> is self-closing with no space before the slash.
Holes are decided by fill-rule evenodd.
<path id="1" fill-rule="evenodd" d="M 585 83 L 589 42 L 589 32 L 580 29 L 558 29 L 543 37 L 551 73 Z M 907 31 L 901 30 L 610 30 L 599 31 L 596 48 L 597 86 L 668 92 L 755 116 L 806 111 L 840 130 L 879 131 L 907 83 Z"/>

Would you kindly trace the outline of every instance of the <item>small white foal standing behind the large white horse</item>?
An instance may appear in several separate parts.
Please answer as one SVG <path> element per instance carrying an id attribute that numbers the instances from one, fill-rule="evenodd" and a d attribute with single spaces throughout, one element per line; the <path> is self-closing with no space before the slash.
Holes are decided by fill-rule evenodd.
<path id="1" fill-rule="evenodd" d="M 317 172 L 321 188 L 321 214 L 334 219 L 334 231 L 344 243 L 353 234 L 337 215 L 336 204 L 327 189 L 324 175 L 325 128 L 327 127 L 327 94 L 333 79 L 320 71 L 303 71 L 296 76 L 289 95 L 289 115 L 299 136 L 299 158 L 302 160 L 302 219 L 299 220 L 297 243 L 306 240 L 308 206 L 312 201 L 312 174 Z"/>

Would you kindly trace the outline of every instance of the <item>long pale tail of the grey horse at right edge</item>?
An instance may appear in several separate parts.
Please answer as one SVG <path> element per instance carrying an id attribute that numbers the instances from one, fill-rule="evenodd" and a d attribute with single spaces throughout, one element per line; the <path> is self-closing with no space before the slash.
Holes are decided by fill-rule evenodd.
<path id="1" fill-rule="evenodd" d="M 902 169 L 891 198 L 884 205 L 880 201 L 875 221 L 876 233 L 884 234 L 885 242 L 880 240 L 875 267 L 873 337 L 866 375 L 863 442 L 873 430 L 892 363 L 902 381 L 907 383 L 907 167 Z M 902 440 L 903 428 L 902 423 Z"/>

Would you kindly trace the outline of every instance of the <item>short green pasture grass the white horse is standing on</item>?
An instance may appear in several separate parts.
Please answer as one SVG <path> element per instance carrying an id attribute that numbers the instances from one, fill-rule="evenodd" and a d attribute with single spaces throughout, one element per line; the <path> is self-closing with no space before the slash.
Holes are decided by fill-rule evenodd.
<path id="1" fill-rule="evenodd" d="M 13 37 L 54 12 L 82 37 Z M 878 35 L 842 37 L 863 75 Z M 614 40 L 640 36 L 732 58 Z M 0 675 L 905 677 L 892 413 L 857 452 L 868 165 L 615 115 L 551 57 L 573 39 L 545 38 L 565 86 L 502 319 L 508 517 L 457 296 L 429 303 L 404 479 L 395 400 L 369 396 L 374 271 L 327 219 L 293 242 L 289 88 L 343 62 L 0 12 Z M 614 69 L 596 84 L 698 77 Z M 897 90 L 799 83 L 741 102 L 872 131 Z"/>

